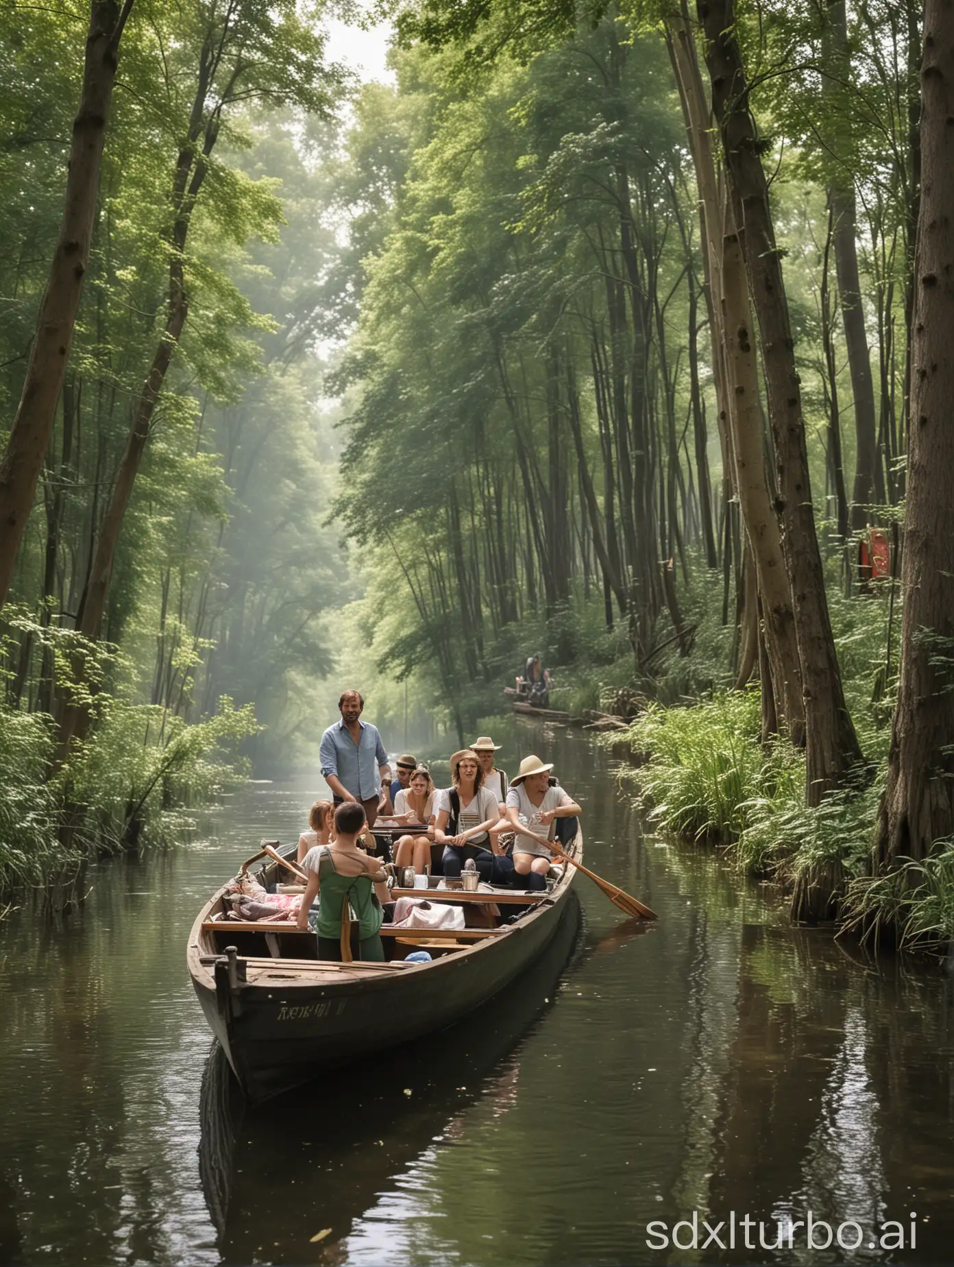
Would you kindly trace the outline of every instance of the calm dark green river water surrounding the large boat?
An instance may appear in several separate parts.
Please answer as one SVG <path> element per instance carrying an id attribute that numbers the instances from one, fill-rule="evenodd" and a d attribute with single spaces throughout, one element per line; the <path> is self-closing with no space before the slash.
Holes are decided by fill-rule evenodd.
<path id="1" fill-rule="evenodd" d="M 503 764 L 532 750 L 584 806 L 588 863 L 659 924 L 580 877 L 579 930 L 467 1025 L 255 1112 L 186 935 L 309 789 L 250 787 L 193 843 L 103 864 L 63 927 L 0 924 L 0 1262 L 954 1262 L 950 979 L 792 929 L 770 889 L 644 835 L 583 737 L 526 729 Z M 860 1248 L 759 1248 L 759 1220 L 773 1244 L 806 1210 Z M 647 1247 L 693 1211 L 723 1251 Z M 870 1248 L 884 1220 L 903 1249 Z"/>

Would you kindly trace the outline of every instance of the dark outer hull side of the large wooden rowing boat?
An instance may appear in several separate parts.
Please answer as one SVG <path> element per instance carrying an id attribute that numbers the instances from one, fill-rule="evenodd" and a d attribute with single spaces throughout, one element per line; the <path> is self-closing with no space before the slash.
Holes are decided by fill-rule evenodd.
<path id="1" fill-rule="evenodd" d="M 570 879 L 568 877 L 568 879 Z M 293 979 L 276 959 L 267 979 L 229 987 L 226 972 L 193 973 L 199 1002 L 253 1104 L 322 1069 L 398 1047 L 467 1016 L 527 969 L 566 915 L 571 883 L 554 901 L 479 948 L 371 979 Z"/>

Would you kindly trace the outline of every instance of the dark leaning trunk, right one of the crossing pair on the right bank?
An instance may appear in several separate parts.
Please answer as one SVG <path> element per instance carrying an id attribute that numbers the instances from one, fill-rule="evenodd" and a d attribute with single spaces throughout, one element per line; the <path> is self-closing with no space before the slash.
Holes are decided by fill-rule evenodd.
<path id="1" fill-rule="evenodd" d="M 712 104 L 722 136 L 730 201 L 741 231 L 749 290 L 759 319 L 769 419 L 775 449 L 782 549 L 802 665 L 806 796 L 817 805 L 862 759 L 845 704 L 831 634 L 821 551 L 815 533 L 805 419 L 782 262 L 775 243 L 760 141 L 735 37 L 732 0 L 697 0 L 707 37 Z"/>

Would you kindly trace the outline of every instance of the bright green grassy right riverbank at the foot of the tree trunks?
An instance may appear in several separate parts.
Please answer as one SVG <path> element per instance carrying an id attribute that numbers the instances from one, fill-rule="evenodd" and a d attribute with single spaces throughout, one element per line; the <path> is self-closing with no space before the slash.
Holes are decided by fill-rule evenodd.
<path id="1" fill-rule="evenodd" d="M 794 921 L 832 921 L 873 945 L 945 955 L 954 940 L 954 845 L 925 862 L 873 873 L 886 754 L 855 787 L 805 805 L 805 756 L 784 739 L 763 742 L 758 685 L 665 707 L 650 702 L 622 745 L 635 803 L 660 832 L 711 845 L 745 877 L 789 898 Z M 887 732 L 877 736 L 886 746 Z"/>

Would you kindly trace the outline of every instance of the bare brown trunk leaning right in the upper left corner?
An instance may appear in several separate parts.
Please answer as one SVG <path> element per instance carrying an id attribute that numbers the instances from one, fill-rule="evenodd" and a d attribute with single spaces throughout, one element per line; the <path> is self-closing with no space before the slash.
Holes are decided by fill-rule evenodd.
<path id="1" fill-rule="evenodd" d="M 76 312 L 90 255 L 99 176 L 117 54 L 133 0 L 94 0 L 86 35 L 80 109 L 73 119 L 66 200 L 23 393 L 0 464 L 0 606 L 10 592 L 16 554 L 53 432 L 70 359 Z"/>

